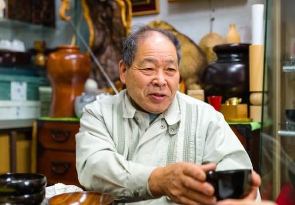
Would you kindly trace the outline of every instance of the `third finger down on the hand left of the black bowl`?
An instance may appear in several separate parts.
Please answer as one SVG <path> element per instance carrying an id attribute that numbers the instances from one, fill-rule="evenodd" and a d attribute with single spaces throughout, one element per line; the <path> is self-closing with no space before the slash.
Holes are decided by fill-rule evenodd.
<path id="1" fill-rule="evenodd" d="M 212 196 L 214 194 L 214 187 L 208 182 L 201 182 L 184 175 L 181 179 L 181 183 L 183 187 L 198 191 L 207 196 Z"/>

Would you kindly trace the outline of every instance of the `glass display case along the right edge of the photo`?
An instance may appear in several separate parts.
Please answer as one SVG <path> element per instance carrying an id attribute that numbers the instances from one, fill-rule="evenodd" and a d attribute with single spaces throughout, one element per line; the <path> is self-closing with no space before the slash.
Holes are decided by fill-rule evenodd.
<path id="1" fill-rule="evenodd" d="M 295 1 L 266 1 L 262 199 L 295 201 Z M 292 202 L 292 203 L 291 203 Z"/>

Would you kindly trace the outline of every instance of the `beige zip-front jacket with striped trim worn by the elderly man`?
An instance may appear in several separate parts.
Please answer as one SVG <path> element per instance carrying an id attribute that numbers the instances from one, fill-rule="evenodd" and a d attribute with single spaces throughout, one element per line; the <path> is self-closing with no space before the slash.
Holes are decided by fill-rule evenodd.
<path id="1" fill-rule="evenodd" d="M 80 183 L 127 202 L 151 199 L 137 205 L 174 204 L 149 194 L 148 177 L 159 166 L 188 161 L 217 163 L 217 170 L 252 168 L 223 115 L 179 92 L 151 125 L 126 90 L 86 105 L 80 124 L 76 135 Z"/>

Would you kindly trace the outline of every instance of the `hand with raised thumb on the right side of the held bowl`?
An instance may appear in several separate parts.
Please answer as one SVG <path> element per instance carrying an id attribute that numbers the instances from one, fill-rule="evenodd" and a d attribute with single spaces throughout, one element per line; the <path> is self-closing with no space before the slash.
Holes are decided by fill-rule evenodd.
<path id="1" fill-rule="evenodd" d="M 255 202 L 254 200 L 257 197 L 258 188 L 261 185 L 261 178 L 260 176 L 252 170 L 252 186 L 250 192 L 245 196 L 243 199 L 240 200 L 233 200 L 233 199 L 226 199 L 219 201 L 217 205 L 256 205 L 259 202 Z M 265 201 L 263 204 L 271 204 L 270 201 Z"/>

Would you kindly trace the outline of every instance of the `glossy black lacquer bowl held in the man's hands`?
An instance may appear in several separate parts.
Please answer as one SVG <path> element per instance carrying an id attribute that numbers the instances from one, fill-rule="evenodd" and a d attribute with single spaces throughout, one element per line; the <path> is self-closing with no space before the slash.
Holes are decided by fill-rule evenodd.
<path id="1" fill-rule="evenodd" d="M 206 181 L 215 189 L 217 200 L 240 199 L 247 195 L 251 188 L 251 169 L 209 171 Z"/>

